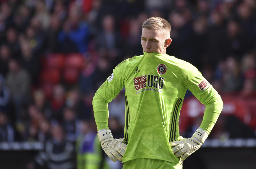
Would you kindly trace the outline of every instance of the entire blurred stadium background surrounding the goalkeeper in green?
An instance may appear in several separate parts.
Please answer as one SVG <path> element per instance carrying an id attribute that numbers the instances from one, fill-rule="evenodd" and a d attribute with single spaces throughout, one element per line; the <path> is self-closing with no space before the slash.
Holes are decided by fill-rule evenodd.
<path id="1" fill-rule="evenodd" d="M 151 16 L 171 23 L 167 54 L 195 65 L 224 101 L 183 168 L 255 168 L 255 0 L 0 0 L 1 169 L 122 167 L 102 152 L 92 98 L 117 64 L 143 54 Z M 204 108 L 187 91 L 180 135 L 191 137 Z M 109 103 L 115 138 L 124 115 L 122 90 Z"/>

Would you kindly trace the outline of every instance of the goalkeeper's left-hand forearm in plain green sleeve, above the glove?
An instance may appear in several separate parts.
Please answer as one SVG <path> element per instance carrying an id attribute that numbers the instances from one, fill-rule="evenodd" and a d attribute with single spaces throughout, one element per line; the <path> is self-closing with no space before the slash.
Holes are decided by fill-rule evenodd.
<path id="1" fill-rule="evenodd" d="M 94 97 L 92 105 L 97 130 L 108 129 L 108 103 Z"/>

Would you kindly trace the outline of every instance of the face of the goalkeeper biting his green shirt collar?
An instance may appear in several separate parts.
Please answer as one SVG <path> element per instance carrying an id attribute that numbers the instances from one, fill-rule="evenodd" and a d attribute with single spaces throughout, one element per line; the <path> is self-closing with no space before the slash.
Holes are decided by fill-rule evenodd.
<path id="1" fill-rule="evenodd" d="M 168 42 L 167 42 L 168 41 Z M 166 48 L 170 45 L 170 32 L 142 28 L 141 45 L 143 52 L 165 54 Z"/>

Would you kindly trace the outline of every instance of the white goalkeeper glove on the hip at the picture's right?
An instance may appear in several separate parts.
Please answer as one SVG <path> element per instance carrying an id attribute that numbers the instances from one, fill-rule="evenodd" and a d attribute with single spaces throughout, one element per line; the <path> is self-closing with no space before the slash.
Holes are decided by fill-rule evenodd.
<path id="1" fill-rule="evenodd" d="M 185 160 L 190 154 L 194 153 L 208 137 L 208 134 L 201 128 L 198 128 L 191 138 L 182 138 L 180 141 L 170 142 L 172 153 L 176 157 L 181 156 Z"/>

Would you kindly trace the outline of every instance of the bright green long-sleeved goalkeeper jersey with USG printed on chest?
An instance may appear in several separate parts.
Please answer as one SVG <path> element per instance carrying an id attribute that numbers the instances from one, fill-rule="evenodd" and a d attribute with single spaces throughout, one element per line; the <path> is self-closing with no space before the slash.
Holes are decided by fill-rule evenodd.
<path id="1" fill-rule="evenodd" d="M 108 129 L 108 102 L 123 87 L 127 149 L 122 162 L 151 158 L 182 163 L 169 142 L 179 140 L 180 109 L 187 90 L 206 105 L 200 128 L 208 134 L 223 107 L 218 92 L 196 67 L 174 56 L 144 52 L 116 66 L 97 90 L 93 111 L 98 130 Z"/>

